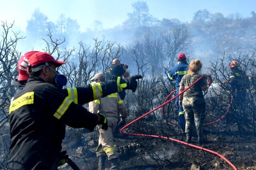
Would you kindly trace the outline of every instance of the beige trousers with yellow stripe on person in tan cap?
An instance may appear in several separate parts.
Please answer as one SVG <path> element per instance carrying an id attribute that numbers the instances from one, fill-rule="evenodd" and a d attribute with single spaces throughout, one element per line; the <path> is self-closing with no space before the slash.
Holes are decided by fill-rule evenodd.
<path id="1" fill-rule="evenodd" d="M 108 119 L 108 117 L 107 117 Z M 116 128 L 117 121 L 108 121 L 108 130 L 102 130 L 102 125 L 98 125 L 100 136 L 99 144 L 96 148 L 96 155 L 108 156 L 108 160 L 118 158 L 119 154 L 114 147 L 113 132 Z"/>

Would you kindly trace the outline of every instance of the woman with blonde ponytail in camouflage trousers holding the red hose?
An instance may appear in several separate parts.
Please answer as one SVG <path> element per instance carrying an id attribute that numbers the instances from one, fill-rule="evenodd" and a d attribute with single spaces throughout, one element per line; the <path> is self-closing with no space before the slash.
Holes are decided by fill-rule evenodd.
<path id="1" fill-rule="evenodd" d="M 191 61 L 188 66 L 188 74 L 184 75 L 180 81 L 181 93 L 184 89 L 194 83 L 198 78 L 202 77 L 198 83 L 190 87 L 185 93 L 180 95 L 179 104 L 185 111 L 186 118 L 186 142 L 191 142 L 191 133 L 194 121 L 196 123 L 196 131 L 198 135 L 198 143 L 203 143 L 203 122 L 205 118 L 205 101 L 202 91 L 207 90 L 207 76 L 201 75 L 202 62 L 199 59 Z"/>

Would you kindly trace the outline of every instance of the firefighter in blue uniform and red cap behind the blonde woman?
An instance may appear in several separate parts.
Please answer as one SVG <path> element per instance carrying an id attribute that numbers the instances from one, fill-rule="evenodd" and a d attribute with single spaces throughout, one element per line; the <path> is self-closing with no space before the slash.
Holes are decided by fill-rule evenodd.
<path id="1" fill-rule="evenodd" d="M 184 75 L 188 73 L 188 63 L 186 61 L 186 55 L 184 53 L 178 54 L 178 65 L 172 68 L 172 70 L 168 73 L 168 77 L 170 81 L 175 80 L 175 87 L 176 93 L 178 95 L 179 88 L 180 88 L 180 81 Z M 184 110 L 181 105 L 179 105 L 179 99 L 176 98 L 176 107 L 178 111 L 178 121 L 179 121 L 179 128 L 185 132 L 185 115 Z"/>

